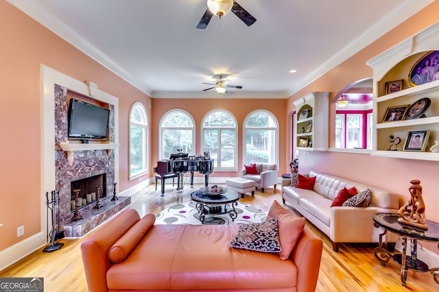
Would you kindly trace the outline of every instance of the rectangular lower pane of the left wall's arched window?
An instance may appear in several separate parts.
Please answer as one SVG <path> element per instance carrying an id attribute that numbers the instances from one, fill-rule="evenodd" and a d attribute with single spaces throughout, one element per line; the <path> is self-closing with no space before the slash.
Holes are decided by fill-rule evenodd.
<path id="1" fill-rule="evenodd" d="M 130 131 L 130 174 L 134 175 L 145 171 L 145 130 L 140 127 L 131 127 Z"/>

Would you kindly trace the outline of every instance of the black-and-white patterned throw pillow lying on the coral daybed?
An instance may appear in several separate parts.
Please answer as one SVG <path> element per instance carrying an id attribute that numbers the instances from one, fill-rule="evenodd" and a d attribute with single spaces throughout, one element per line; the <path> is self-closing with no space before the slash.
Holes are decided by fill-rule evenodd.
<path id="1" fill-rule="evenodd" d="M 229 245 L 256 252 L 281 252 L 277 216 L 263 223 L 242 224 Z"/>

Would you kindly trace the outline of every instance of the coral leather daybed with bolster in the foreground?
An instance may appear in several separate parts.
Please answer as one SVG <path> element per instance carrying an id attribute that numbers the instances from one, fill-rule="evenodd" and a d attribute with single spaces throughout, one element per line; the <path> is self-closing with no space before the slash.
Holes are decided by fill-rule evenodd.
<path id="1" fill-rule="evenodd" d="M 316 289 L 322 241 L 307 226 L 289 258 L 281 260 L 276 253 L 230 247 L 239 225 L 154 225 L 154 221 L 154 215 L 141 219 L 136 210 L 124 210 L 84 240 L 89 291 Z"/>

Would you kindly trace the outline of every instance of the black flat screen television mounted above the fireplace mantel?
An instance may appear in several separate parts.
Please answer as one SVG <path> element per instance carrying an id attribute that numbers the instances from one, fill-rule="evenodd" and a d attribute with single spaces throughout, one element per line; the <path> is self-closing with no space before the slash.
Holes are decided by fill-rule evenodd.
<path id="1" fill-rule="evenodd" d="M 69 138 L 106 140 L 110 110 L 88 104 L 78 99 L 70 99 Z"/>

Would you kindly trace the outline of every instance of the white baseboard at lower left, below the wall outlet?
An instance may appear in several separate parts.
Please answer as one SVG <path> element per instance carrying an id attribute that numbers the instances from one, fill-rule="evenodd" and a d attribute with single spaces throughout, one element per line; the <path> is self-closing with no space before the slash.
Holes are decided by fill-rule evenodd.
<path id="1" fill-rule="evenodd" d="M 47 245 L 46 235 L 38 232 L 0 252 L 0 271 Z"/>

